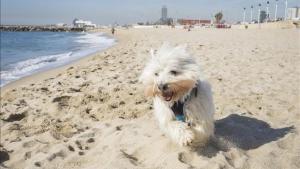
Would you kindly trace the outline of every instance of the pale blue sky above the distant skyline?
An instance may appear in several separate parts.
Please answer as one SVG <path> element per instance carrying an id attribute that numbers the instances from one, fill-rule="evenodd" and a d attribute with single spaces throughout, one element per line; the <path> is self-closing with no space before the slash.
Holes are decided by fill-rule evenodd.
<path id="1" fill-rule="evenodd" d="M 275 0 L 270 1 L 271 17 Z M 267 0 L 1 0 L 1 24 L 71 24 L 74 18 L 97 24 L 156 21 L 162 5 L 173 18 L 210 19 L 222 11 L 229 22 L 242 20 L 243 7 L 265 9 Z M 278 16 L 284 15 L 285 0 L 278 1 Z M 300 6 L 300 0 L 288 0 L 288 6 Z M 250 12 L 249 12 L 250 13 Z"/>

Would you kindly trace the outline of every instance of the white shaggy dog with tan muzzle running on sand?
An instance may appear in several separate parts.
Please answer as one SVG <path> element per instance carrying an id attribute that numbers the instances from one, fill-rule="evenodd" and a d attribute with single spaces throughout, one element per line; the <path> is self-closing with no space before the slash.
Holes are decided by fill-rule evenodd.
<path id="1" fill-rule="evenodd" d="M 162 131 L 179 145 L 203 146 L 214 134 L 212 93 L 185 48 L 165 43 L 151 50 L 140 81 Z"/>

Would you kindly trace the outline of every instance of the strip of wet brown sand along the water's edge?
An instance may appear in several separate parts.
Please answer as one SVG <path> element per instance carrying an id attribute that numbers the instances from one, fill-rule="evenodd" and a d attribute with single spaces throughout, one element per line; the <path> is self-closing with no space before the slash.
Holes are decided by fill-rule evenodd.
<path id="1" fill-rule="evenodd" d="M 41 81 L 43 79 L 51 78 L 52 76 L 55 76 L 55 75 L 59 74 L 60 72 L 63 72 L 65 70 L 67 70 L 69 67 L 77 66 L 77 65 L 80 65 L 81 63 L 87 62 L 87 60 L 89 60 L 89 59 L 105 52 L 106 50 L 114 47 L 119 42 L 119 39 L 117 39 L 114 36 L 111 36 L 109 34 L 109 30 L 106 30 L 106 29 L 93 30 L 93 31 L 88 31 L 88 32 L 90 32 L 90 33 L 97 33 L 97 32 L 104 33 L 103 34 L 104 36 L 114 38 L 117 43 L 110 46 L 110 47 L 108 47 L 108 48 L 106 48 L 106 49 L 104 49 L 104 50 L 95 52 L 93 54 L 89 54 L 87 56 L 83 56 L 83 57 L 81 57 L 77 60 L 71 61 L 70 63 L 67 63 L 65 65 L 58 66 L 58 67 L 55 67 L 55 68 L 51 68 L 49 70 L 42 70 L 40 72 L 36 72 L 36 73 L 31 74 L 31 75 L 21 77 L 20 79 L 17 79 L 15 81 L 9 82 L 8 84 L 5 84 L 4 86 L 0 87 L 1 95 L 2 95 L 2 93 L 5 93 L 6 91 L 8 91 L 12 88 L 19 87 L 19 86 L 22 86 L 22 85 L 28 85 L 28 84 L 33 83 L 33 82 L 37 82 L 37 81 Z M 43 77 L 43 78 L 40 78 L 40 77 Z"/>

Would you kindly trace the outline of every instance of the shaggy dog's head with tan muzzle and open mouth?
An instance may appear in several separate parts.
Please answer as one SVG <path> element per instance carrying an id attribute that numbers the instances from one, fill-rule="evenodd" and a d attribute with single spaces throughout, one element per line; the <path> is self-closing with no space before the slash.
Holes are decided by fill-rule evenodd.
<path id="1" fill-rule="evenodd" d="M 146 96 L 158 96 L 170 102 L 178 101 L 190 92 L 199 77 L 199 66 L 185 46 L 164 44 L 156 53 L 151 50 L 151 60 L 140 81 L 146 86 Z"/>

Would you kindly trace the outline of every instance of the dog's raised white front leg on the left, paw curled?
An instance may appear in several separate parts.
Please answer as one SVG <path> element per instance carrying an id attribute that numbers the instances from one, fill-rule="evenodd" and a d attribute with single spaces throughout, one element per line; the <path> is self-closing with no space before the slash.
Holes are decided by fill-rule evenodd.
<path id="1" fill-rule="evenodd" d="M 163 132 L 179 145 L 189 145 L 194 139 L 194 133 L 188 124 L 176 121 L 170 107 L 160 98 L 154 98 L 153 104 L 155 116 Z"/>

